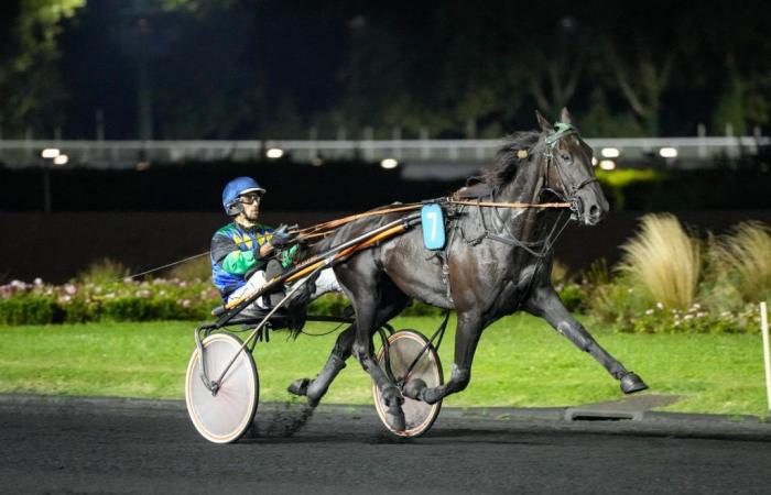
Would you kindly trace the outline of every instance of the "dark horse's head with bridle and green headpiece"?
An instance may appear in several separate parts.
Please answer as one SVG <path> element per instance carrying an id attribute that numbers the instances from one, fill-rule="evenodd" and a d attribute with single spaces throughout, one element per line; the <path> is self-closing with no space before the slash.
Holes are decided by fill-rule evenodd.
<path id="1" fill-rule="evenodd" d="M 573 207 L 573 218 L 585 226 L 597 224 L 609 205 L 595 177 L 591 148 L 580 139 L 571 124 L 567 109 L 562 110 L 561 121 L 552 125 L 540 112 L 535 112 L 544 150 L 544 188 L 556 193 Z"/>

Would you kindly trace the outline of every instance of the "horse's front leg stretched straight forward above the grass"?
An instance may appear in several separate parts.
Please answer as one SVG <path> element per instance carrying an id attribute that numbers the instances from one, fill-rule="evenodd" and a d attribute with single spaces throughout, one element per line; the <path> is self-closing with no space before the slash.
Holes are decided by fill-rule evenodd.
<path id="1" fill-rule="evenodd" d="M 648 385 L 634 373 L 602 349 L 588 331 L 569 314 L 551 285 L 536 287 L 525 301 L 524 309 L 549 321 L 560 333 L 567 337 L 582 351 L 588 352 L 615 378 L 621 382 L 625 394 L 644 391 Z"/>

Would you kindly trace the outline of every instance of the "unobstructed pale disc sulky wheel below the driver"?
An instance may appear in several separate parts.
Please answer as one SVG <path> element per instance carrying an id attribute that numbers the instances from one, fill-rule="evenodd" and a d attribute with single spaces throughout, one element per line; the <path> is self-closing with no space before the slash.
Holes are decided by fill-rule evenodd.
<path id="1" fill-rule="evenodd" d="M 215 333 L 203 342 L 206 373 L 216 381 L 236 358 L 222 377 L 216 394 L 200 378 L 198 350 L 193 351 L 185 375 L 185 403 L 196 430 L 215 443 L 235 442 L 251 427 L 260 395 L 260 380 L 251 354 L 240 350 L 238 337 Z"/>

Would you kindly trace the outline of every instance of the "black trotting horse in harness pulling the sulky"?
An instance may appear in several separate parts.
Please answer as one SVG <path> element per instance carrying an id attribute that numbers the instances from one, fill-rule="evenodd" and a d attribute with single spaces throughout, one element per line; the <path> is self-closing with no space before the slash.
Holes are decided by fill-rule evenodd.
<path id="1" fill-rule="evenodd" d="M 594 176 L 591 148 L 571 125 L 566 109 L 551 125 L 536 112 L 540 132 L 512 136 L 496 167 L 455 198 L 536 204 L 561 199 L 567 209 L 503 208 L 449 204 L 447 244 L 438 255 L 423 245 L 420 229 L 361 251 L 335 266 L 356 311 L 356 322 L 340 333 L 318 376 L 302 378 L 290 392 L 315 405 L 352 353 L 380 388 L 389 420 L 403 429 L 402 394 L 433 404 L 463 391 L 482 330 L 519 310 L 544 318 L 578 349 L 588 352 L 617 380 L 625 394 L 648 388 L 642 380 L 605 351 L 565 309 L 551 284 L 553 242 L 571 220 L 597 224 L 608 202 Z M 337 230 L 314 250 L 324 251 L 399 218 L 398 213 L 357 220 Z M 399 315 L 411 299 L 457 312 L 455 360 L 447 383 L 428 388 L 420 380 L 400 391 L 373 358 L 377 328 Z"/>

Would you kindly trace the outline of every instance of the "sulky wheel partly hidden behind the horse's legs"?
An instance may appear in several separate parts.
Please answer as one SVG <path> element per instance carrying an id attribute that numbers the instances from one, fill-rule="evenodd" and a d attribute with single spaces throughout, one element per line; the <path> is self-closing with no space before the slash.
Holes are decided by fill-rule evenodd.
<path id="1" fill-rule="evenodd" d="M 389 359 L 391 362 L 391 372 L 398 383 L 406 386 L 411 380 L 421 378 L 428 387 L 436 387 L 444 383 L 442 375 L 442 362 L 439 355 L 433 345 L 428 344 L 421 358 L 417 360 L 412 371 L 408 376 L 404 376 L 408 369 L 415 361 L 421 351 L 425 348 L 428 339 L 415 330 L 400 330 L 393 333 L 388 339 L 389 342 Z M 381 348 L 377 355 L 378 364 L 387 373 L 386 367 L 386 348 Z M 386 410 L 380 397 L 380 391 L 372 384 L 372 395 L 374 397 L 374 407 L 378 410 L 380 420 L 393 433 L 401 437 L 417 437 L 423 435 L 431 428 L 434 420 L 439 415 L 442 409 L 442 400 L 436 404 L 426 404 L 422 400 L 404 397 L 402 410 L 404 411 L 404 422 L 406 428 L 404 431 L 397 431 L 389 425 L 386 417 Z"/>

